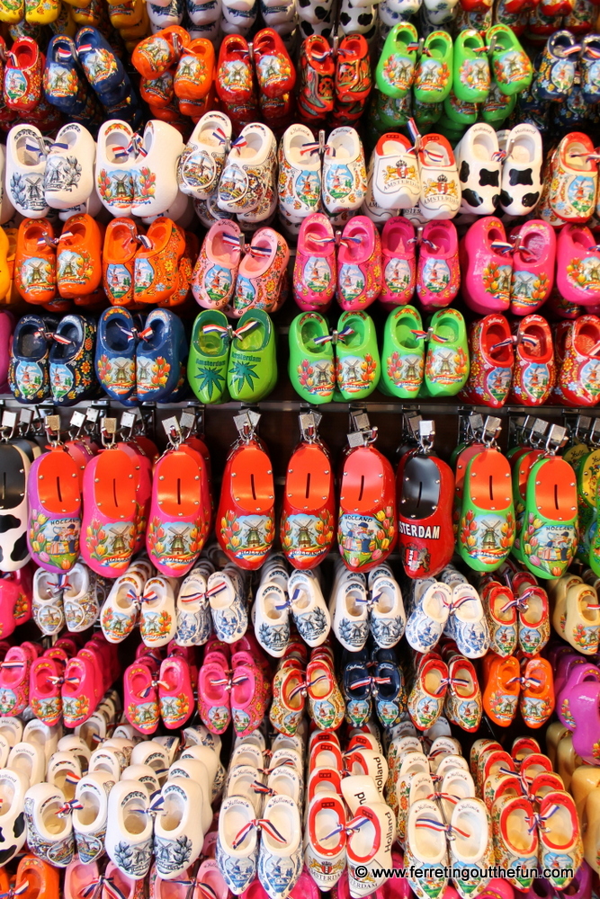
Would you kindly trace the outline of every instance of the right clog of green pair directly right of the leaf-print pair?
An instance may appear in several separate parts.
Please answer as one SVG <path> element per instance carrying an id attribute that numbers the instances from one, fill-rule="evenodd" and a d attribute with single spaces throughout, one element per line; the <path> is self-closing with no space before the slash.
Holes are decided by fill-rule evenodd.
<path id="1" fill-rule="evenodd" d="M 370 396 L 381 377 L 381 360 L 372 317 L 345 312 L 337 323 L 336 380 L 345 401 Z"/>

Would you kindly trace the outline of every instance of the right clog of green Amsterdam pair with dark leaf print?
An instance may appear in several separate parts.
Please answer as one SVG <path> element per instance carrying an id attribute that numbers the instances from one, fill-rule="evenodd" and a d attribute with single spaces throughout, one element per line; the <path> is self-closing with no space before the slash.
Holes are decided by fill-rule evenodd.
<path id="1" fill-rule="evenodd" d="M 253 326 L 246 330 L 251 323 Z M 273 322 L 262 309 L 248 309 L 237 322 L 231 340 L 229 395 L 241 403 L 257 403 L 273 390 L 276 381 Z"/>

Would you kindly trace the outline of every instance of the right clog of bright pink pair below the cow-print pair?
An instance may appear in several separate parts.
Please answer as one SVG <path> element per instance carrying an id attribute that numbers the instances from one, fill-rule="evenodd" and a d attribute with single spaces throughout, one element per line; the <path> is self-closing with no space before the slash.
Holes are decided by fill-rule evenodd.
<path id="1" fill-rule="evenodd" d="M 542 219 L 532 219 L 510 232 L 514 242 L 510 311 L 528 316 L 545 303 L 554 285 L 556 235 Z"/>

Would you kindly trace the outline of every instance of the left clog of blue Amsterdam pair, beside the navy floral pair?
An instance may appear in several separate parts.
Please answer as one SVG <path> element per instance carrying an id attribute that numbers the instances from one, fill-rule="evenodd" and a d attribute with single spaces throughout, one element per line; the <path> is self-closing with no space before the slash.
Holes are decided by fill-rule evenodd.
<path id="1" fill-rule="evenodd" d="M 130 399 L 136 388 L 137 333 L 127 309 L 104 309 L 98 322 L 96 376 L 106 394 L 121 403 Z"/>

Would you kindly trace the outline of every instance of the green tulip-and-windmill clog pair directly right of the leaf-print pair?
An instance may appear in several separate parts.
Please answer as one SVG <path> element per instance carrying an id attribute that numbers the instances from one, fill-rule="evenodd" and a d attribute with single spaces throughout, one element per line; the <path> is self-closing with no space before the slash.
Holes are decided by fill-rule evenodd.
<path id="1" fill-rule="evenodd" d="M 290 379 L 309 403 L 329 403 L 336 387 L 345 400 L 369 396 L 381 377 L 381 360 L 372 318 L 345 312 L 337 329 L 317 312 L 297 316 L 290 327 Z"/>

